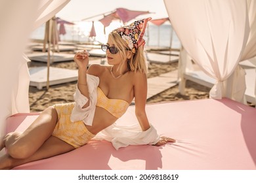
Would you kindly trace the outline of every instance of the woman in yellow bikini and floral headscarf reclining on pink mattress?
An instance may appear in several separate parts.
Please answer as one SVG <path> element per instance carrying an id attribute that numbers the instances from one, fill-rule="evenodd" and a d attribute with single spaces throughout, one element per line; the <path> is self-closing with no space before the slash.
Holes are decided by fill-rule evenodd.
<path id="1" fill-rule="evenodd" d="M 23 133 L 7 134 L 0 141 L 0 150 L 7 149 L 7 154 L 0 158 L 0 169 L 11 169 L 85 145 L 97 133 L 114 124 L 134 98 L 142 134 L 151 137 L 147 144 L 160 146 L 175 142 L 159 137 L 145 112 L 147 67 L 142 37 L 150 19 L 135 21 L 110 33 L 102 50 L 106 51 L 111 66 L 91 65 L 87 69 L 89 54 L 86 51 L 75 54 L 78 67 L 75 103 L 49 107 Z M 119 148 L 118 144 L 116 148 Z"/>

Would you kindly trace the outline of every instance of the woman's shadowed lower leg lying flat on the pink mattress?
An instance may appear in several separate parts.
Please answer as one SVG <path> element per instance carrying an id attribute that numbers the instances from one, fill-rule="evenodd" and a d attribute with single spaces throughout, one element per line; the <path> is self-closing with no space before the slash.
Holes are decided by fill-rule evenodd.
<path id="1" fill-rule="evenodd" d="M 35 152 L 29 158 L 16 159 L 12 158 L 9 154 L 5 154 L 5 156 L 0 158 L 0 169 L 12 169 L 13 167 L 22 165 L 24 163 L 36 161 L 39 159 L 50 158 L 59 154 L 70 152 L 74 149 L 75 148 L 70 144 L 51 136 L 49 137 L 49 139 L 47 139 L 47 141 L 42 144 L 37 152 Z"/>

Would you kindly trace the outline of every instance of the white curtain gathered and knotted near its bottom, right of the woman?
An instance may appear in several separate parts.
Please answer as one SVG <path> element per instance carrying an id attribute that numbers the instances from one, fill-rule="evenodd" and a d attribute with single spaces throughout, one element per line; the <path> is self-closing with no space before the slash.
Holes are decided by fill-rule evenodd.
<path id="1" fill-rule="evenodd" d="M 238 65 L 249 36 L 247 1 L 165 0 L 182 46 L 217 83 L 210 97 L 223 97 L 223 81 Z"/>

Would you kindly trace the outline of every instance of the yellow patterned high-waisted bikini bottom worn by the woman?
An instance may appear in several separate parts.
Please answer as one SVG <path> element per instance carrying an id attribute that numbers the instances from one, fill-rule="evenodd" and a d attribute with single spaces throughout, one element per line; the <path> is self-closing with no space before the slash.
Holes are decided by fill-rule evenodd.
<path id="1" fill-rule="evenodd" d="M 58 113 L 58 120 L 53 131 L 53 136 L 67 142 L 74 146 L 74 148 L 79 148 L 87 144 L 95 135 L 88 131 L 83 121 L 70 121 L 70 115 L 74 106 L 75 103 L 54 105 Z"/>

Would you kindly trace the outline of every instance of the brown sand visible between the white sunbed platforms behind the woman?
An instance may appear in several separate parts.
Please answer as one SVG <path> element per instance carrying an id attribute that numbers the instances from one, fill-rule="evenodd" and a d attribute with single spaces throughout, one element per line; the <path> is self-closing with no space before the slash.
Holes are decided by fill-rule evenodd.
<path id="1" fill-rule="evenodd" d="M 91 57 L 91 59 L 96 59 Z M 36 61 L 31 61 L 29 67 L 37 67 L 46 65 L 46 63 L 40 63 Z M 51 64 L 53 67 L 61 67 L 68 69 L 77 69 L 74 61 L 65 61 L 60 63 Z M 148 65 L 148 78 L 158 76 L 162 73 L 167 73 L 169 71 L 174 71 L 178 67 L 178 63 L 171 64 L 161 64 L 161 63 L 150 63 Z M 30 110 L 31 112 L 42 111 L 43 109 L 54 105 L 56 103 L 68 103 L 74 101 L 74 91 L 76 82 L 68 82 L 65 84 L 58 84 L 55 86 L 50 86 L 49 90 L 43 88 L 38 90 L 35 87 L 30 86 L 29 88 L 29 100 L 30 100 Z M 190 99 L 205 99 L 209 97 L 209 90 L 205 86 L 196 84 L 194 82 L 187 81 L 185 94 L 181 95 L 178 90 L 178 86 L 169 88 L 158 95 L 154 95 L 147 100 L 147 103 L 160 103 L 166 101 L 179 101 L 179 100 L 190 100 Z"/>

